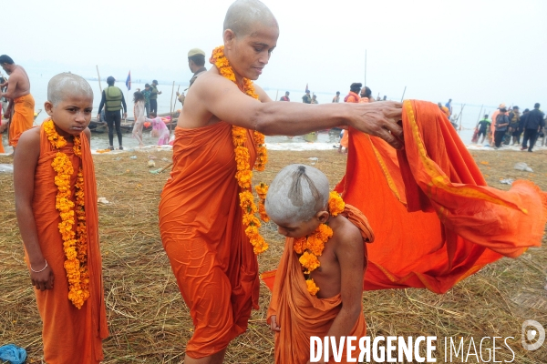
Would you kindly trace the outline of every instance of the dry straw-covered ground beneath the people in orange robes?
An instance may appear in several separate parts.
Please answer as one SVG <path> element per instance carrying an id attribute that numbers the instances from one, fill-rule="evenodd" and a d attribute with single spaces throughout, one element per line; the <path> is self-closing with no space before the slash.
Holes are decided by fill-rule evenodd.
<path id="1" fill-rule="evenodd" d="M 170 152 L 150 152 L 157 167 L 167 165 Z M 104 342 L 104 363 L 180 363 L 185 343 L 192 335 L 189 310 L 183 303 L 158 230 L 157 207 L 167 174 L 152 175 L 149 153 L 94 156 L 98 197 L 110 203 L 99 211 L 105 297 L 110 337 Z M 472 151 L 493 187 L 508 189 L 502 178 L 528 178 L 547 190 L 547 153 Z M 258 175 L 270 182 L 290 163 L 310 164 L 329 177 L 334 186 L 344 174 L 346 157 L 332 151 L 272 151 L 266 172 Z M 533 173 L 512 169 L 526 162 Z M 0 163 L 11 163 L 0 157 Z M 40 362 L 41 322 L 33 288 L 23 261 L 18 233 L 11 174 L 0 174 L 0 345 L 15 343 L 28 352 L 28 362 Z M 275 268 L 283 240 L 273 225 L 263 227 L 271 248 L 259 258 L 261 271 Z M 419 237 L 417 237 L 418 241 Z M 410 242 L 413 243 L 413 242 Z M 543 240 L 545 243 L 545 240 Z M 521 349 L 521 324 L 525 319 L 547 323 L 547 248 L 532 248 L 521 258 L 503 258 L 480 273 L 460 282 L 445 295 L 421 289 L 365 292 L 364 310 L 372 337 L 438 337 L 438 362 L 444 362 L 442 338 L 471 337 L 477 348 L 482 337 L 514 337 L 508 342 L 515 363 L 547 362 L 545 346 L 534 352 Z M 234 340 L 226 363 L 274 362 L 274 337 L 265 323 L 269 292 L 261 288 L 260 309 L 253 311 L 248 331 Z M 547 325 L 545 325 L 547 326 Z M 491 341 L 489 342 L 491 349 Z M 511 351 L 498 341 L 496 360 L 511 360 Z M 484 351 L 484 361 L 488 351 Z M 455 362 L 460 362 L 456 359 Z M 469 362 L 477 362 L 474 356 Z M 491 360 L 489 359 L 489 362 Z"/>

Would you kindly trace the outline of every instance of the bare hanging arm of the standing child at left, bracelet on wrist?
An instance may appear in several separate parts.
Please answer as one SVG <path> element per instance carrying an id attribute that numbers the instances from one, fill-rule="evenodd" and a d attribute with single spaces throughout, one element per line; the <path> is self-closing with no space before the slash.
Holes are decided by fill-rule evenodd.
<path id="1" fill-rule="evenodd" d="M 36 221 L 32 211 L 35 170 L 39 156 L 39 129 L 27 130 L 19 138 L 14 156 L 15 215 L 30 263 L 32 285 L 36 289 L 45 290 L 53 288 L 54 277 L 51 268 L 47 267 L 38 243 Z"/>

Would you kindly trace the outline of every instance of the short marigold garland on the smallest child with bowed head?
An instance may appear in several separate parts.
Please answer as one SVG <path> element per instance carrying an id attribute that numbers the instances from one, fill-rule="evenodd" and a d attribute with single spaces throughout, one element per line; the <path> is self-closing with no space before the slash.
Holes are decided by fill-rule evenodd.
<path id="1" fill-rule="evenodd" d="M 331 192 L 328 198 L 328 210 L 335 217 L 346 207 L 346 203 L 336 192 Z M 325 243 L 333 237 L 333 229 L 326 224 L 321 224 L 308 237 L 294 239 L 293 249 L 300 255 L 298 261 L 303 267 L 304 275 L 309 274 L 321 265 L 319 259 L 325 249 Z M 315 296 L 319 288 L 315 285 L 313 278 L 305 280 L 306 288 L 311 295 Z"/>

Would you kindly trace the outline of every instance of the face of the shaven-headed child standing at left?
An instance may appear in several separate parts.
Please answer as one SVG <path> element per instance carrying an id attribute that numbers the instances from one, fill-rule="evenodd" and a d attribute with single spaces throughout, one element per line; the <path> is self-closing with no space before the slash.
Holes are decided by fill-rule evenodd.
<path id="1" fill-rule="evenodd" d="M 47 115 L 51 116 L 62 136 L 77 136 L 88 127 L 93 110 L 93 97 L 81 93 L 63 96 L 54 106 L 46 101 Z"/>

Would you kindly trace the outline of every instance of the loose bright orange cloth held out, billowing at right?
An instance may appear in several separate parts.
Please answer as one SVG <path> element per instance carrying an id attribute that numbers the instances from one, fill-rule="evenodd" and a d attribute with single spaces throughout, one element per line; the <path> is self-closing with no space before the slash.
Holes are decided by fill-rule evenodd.
<path id="1" fill-rule="evenodd" d="M 487 187 L 439 107 L 403 106 L 405 149 L 356 130 L 337 190 L 368 218 L 364 288 L 428 288 L 444 293 L 503 256 L 541 245 L 546 195 L 529 181 Z"/>

